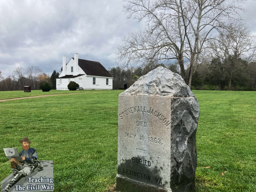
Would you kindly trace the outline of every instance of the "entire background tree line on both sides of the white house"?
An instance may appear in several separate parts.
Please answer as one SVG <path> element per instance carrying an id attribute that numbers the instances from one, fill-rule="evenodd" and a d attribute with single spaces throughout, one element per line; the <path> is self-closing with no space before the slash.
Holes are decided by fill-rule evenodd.
<path id="1" fill-rule="evenodd" d="M 182 75 L 177 63 L 151 64 L 144 68 L 131 67 L 129 69 L 113 67 L 109 69 L 113 77 L 113 89 L 123 89 L 125 83 L 129 88 L 138 78 L 159 66 L 166 67 L 172 72 Z M 184 72 L 185 76 L 188 77 L 189 66 L 184 69 Z M 24 86 L 31 86 L 32 90 L 38 90 L 41 82 L 47 82 L 50 84 L 51 89 L 56 89 L 56 78 L 58 77 L 59 72 L 56 72 L 56 70 L 49 75 L 35 66 L 27 69 L 17 67 L 13 71 L 13 75 L 6 78 L 0 71 L 0 91 L 23 90 Z M 185 81 L 187 80 L 185 79 Z M 191 88 L 196 90 L 256 91 L 256 62 L 247 62 L 234 56 L 229 56 L 225 59 L 216 57 L 209 61 L 204 60 L 204 62 L 196 66 Z"/>

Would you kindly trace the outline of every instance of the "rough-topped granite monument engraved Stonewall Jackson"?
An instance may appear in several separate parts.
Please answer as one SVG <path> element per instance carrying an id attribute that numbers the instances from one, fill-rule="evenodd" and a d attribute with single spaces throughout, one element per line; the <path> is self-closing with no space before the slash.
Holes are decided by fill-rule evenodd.
<path id="1" fill-rule="evenodd" d="M 158 67 L 119 95 L 119 191 L 195 191 L 199 105 L 182 77 Z"/>

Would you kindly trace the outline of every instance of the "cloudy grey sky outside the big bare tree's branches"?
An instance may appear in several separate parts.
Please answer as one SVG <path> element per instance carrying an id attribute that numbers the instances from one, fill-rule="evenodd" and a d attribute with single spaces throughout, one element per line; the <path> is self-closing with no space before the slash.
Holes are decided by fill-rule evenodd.
<path id="1" fill-rule="evenodd" d="M 244 4 L 244 22 L 256 35 L 256 1 Z M 4 76 L 22 66 L 52 73 L 68 60 L 99 61 L 116 67 L 116 47 L 129 31 L 143 27 L 126 19 L 122 0 L 0 1 L 0 70 Z"/>

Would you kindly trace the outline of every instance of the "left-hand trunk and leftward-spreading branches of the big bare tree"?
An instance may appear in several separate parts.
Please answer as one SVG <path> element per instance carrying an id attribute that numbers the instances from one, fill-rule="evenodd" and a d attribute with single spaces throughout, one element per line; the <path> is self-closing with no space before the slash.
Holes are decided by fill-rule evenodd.
<path id="1" fill-rule="evenodd" d="M 124 9 L 130 14 L 129 18 L 134 16 L 138 21 L 145 19 L 147 28 L 143 31 L 130 32 L 123 39 L 123 45 L 118 47 L 116 62 L 124 62 L 126 67 L 140 63 L 142 67 L 152 68 L 152 65 L 165 60 L 174 60 L 174 63 L 179 63 L 185 80 L 183 61 L 185 35 L 179 12 L 169 9 L 169 13 L 164 14 L 167 8 L 159 2 L 157 4 L 143 0 L 126 2 Z M 172 18 L 171 15 L 175 16 Z"/>

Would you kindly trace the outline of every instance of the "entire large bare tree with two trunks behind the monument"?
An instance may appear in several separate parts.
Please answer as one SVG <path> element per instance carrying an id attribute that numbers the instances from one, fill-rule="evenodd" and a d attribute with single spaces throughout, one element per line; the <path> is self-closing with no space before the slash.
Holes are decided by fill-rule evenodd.
<path id="1" fill-rule="evenodd" d="M 223 28 L 226 20 L 239 20 L 242 10 L 239 3 L 229 0 L 125 0 L 124 10 L 128 18 L 144 20 L 147 27 L 131 32 L 118 47 L 116 62 L 124 65 L 171 60 L 178 63 L 185 80 L 184 59 L 189 62 L 187 84 L 204 44 L 212 38 L 211 33 Z"/>

